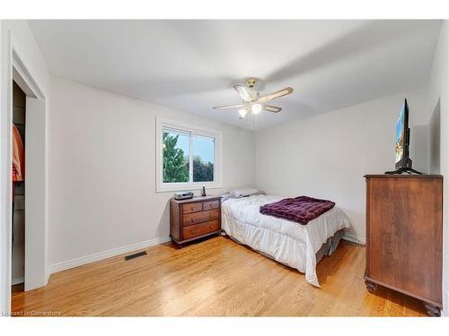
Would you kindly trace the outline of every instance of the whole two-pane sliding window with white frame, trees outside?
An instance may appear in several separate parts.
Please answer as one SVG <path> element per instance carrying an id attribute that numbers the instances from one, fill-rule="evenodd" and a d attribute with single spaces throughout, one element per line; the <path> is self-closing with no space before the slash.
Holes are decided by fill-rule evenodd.
<path id="1" fill-rule="evenodd" d="M 222 187 L 221 133 L 156 121 L 156 191 Z"/>

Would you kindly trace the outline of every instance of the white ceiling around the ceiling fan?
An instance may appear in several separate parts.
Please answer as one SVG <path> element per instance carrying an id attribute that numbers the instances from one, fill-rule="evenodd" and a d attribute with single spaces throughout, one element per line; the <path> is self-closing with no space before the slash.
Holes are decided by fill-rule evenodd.
<path id="1" fill-rule="evenodd" d="M 232 86 L 292 86 L 257 128 L 427 84 L 439 21 L 30 21 L 49 71 L 248 128 Z"/>

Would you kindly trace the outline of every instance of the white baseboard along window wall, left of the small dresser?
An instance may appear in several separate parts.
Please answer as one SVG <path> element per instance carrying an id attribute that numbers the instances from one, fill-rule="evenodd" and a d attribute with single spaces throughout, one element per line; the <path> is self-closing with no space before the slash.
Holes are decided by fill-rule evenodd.
<path id="1" fill-rule="evenodd" d="M 85 265 L 87 263 L 94 263 L 98 262 L 103 259 L 107 259 L 113 256 L 117 256 L 119 254 L 128 254 L 129 252 L 141 250 L 143 248 L 149 247 L 149 246 L 155 246 L 158 244 L 166 243 L 170 241 L 170 237 L 158 237 L 150 240 L 146 240 L 145 242 L 132 244 L 129 246 L 122 246 L 118 248 L 114 248 L 108 251 L 96 253 L 96 254 L 90 254 L 86 256 L 82 256 L 80 258 L 75 258 L 71 260 L 67 260 L 66 262 L 62 263 L 54 263 L 50 265 L 49 267 L 49 273 L 56 273 L 58 271 L 65 271 L 77 266 Z"/>

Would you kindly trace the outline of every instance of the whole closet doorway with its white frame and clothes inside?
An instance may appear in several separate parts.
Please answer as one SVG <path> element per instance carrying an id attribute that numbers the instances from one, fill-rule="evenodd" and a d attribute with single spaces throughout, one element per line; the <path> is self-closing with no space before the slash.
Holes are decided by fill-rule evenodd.
<path id="1" fill-rule="evenodd" d="M 2 117 L 4 123 L 0 125 L 4 140 L 0 169 L 3 214 L 0 225 L 0 306 L 4 314 L 11 313 L 13 290 L 38 289 L 45 286 L 49 278 L 48 102 L 46 90 L 43 90 L 46 87 L 42 86 L 46 81 L 42 73 L 36 69 L 32 71 L 30 64 L 23 61 L 28 57 L 13 33 L 9 34 L 8 51 L 4 53 L 5 70 L 9 70 L 4 72 L 7 85 L 2 87 L 6 113 Z M 22 180 L 13 177 L 17 173 L 13 168 L 14 134 L 23 145 Z M 22 168 L 21 163 L 15 163 Z"/>

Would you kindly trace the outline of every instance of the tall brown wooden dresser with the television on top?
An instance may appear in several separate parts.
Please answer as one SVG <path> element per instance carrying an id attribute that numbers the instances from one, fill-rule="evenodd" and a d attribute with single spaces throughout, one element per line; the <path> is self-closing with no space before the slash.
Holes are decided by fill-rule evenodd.
<path id="1" fill-rule="evenodd" d="M 366 175 L 366 269 L 376 285 L 442 307 L 443 177 Z"/>

